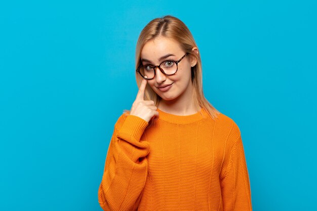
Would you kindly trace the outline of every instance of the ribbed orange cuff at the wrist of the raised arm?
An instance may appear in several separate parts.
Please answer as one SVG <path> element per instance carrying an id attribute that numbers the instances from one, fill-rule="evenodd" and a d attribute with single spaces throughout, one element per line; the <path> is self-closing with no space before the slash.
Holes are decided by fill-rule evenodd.
<path id="1" fill-rule="evenodd" d="M 136 140 L 140 141 L 140 138 L 147 125 L 148 122 L 144 119 L 129 114 L 121 126 L 120 133 L 129 134 Z"/>

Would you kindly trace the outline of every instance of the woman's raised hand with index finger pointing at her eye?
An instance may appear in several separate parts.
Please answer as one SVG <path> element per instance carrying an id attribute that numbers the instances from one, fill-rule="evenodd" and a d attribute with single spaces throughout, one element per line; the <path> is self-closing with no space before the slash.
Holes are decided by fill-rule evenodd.
<path id="1" fill-rule="evenodd" d="M 159 118 L 159 112 L 156 111 L 156 106 L 154 106 L 154 101 L 144 100 L 144 90 L 147 80 L 143 78 L 139 92 L 135 101 L 130 109 L 130 115 L 138 116 L 145 121 L 149 122 L 151 118 Z"/>

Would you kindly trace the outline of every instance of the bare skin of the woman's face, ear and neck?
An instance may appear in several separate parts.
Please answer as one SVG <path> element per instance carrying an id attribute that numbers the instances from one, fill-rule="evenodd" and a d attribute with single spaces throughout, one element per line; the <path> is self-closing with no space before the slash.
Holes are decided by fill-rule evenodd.
<path id="1" fill-rule="evenodd" d="M 193 47 L 192 51 L 198 54 L 196 47 Z M 176 40 L 161 36 L 148 41 L 144 45 L 141 51 L 141 60 L 147 59 L 151 61 L 150 63 L 142 61 L 143 65 L 159 65 L 167 59 L 178 61 L 185 53 Z M 159 61 L 160 57 L 167 54 L 175 56 L 169 56 Z M 148 80 L 147 83 L 162 98 L 157 108 L 175 115 L 190 115 L 198 112 L 195 110 L 193 102 L 190 101 L 193 91 L 191 65 L 196 65 L 196 63 L 196 59 L 188 54 L 178 63 L 178 70 L 174 75 L 165 75 L 159 68 L 155 69 L 155 77 Z M 166 92 L 157 88 L 171 83 L 173 83 L 172 87 Z"/>

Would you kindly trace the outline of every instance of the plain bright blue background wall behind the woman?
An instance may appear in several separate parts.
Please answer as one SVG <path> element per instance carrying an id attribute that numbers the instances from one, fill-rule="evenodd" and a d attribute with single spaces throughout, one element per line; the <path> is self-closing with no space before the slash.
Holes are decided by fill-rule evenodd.
<path id="1" fill-rule="evenodd" d="M 204 93 L 242 132 L 253 210 L 316 210 L 316 1 L 2 1 L 0 210 L 101 210 L 138 35 L 191 30 Z"/>

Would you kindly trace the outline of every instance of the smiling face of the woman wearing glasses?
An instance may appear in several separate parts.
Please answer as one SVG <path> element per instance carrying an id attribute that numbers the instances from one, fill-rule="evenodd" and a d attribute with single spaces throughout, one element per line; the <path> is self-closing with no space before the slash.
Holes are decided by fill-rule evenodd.
<path id="1" fill-rule="evenodd" d="M 156 37 L 153 40 L 148 41 L 141 51 L 141 61 L 143 65 L 160 65 L 163 61 L 174 60 L 178 61 L 184 52 L 177 41 L 166 37 Z M 171 55 L 165 57 L 166 55 Z M 161 57 L 164 57 L 160 60 Z M 144 61 L 148 60 L 148 61 Z M 159 68 L 155 68 L 155 77 L 148 80 L 148 85 L 152 90 L 159 95 L 163 100 L 174 100 L 180 95 L 184 99 L 190 99 L 192 91 L 191 83 L 191 65 L 195 65 L 196 62 L 189 54 L 185 56 L 178 63 L 178 70 L 174 75 L 165 75 Z M 165 87 L 170 85 L 169 89 L 160 89 L 159 87 Z"/>

